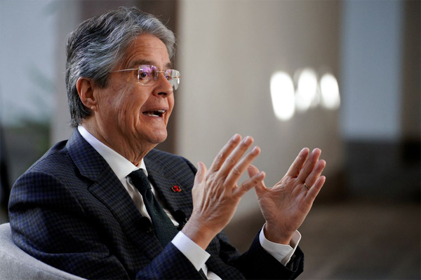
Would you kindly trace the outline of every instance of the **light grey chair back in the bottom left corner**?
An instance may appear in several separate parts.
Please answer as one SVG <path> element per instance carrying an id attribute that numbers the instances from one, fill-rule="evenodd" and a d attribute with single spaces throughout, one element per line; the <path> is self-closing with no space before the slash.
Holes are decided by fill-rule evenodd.
<path id="1" fill-rule="evenodd" d="M 13 243 L 11 225 L 0 225 L 0 279 L 81 280 L 28 255 Z"/>

